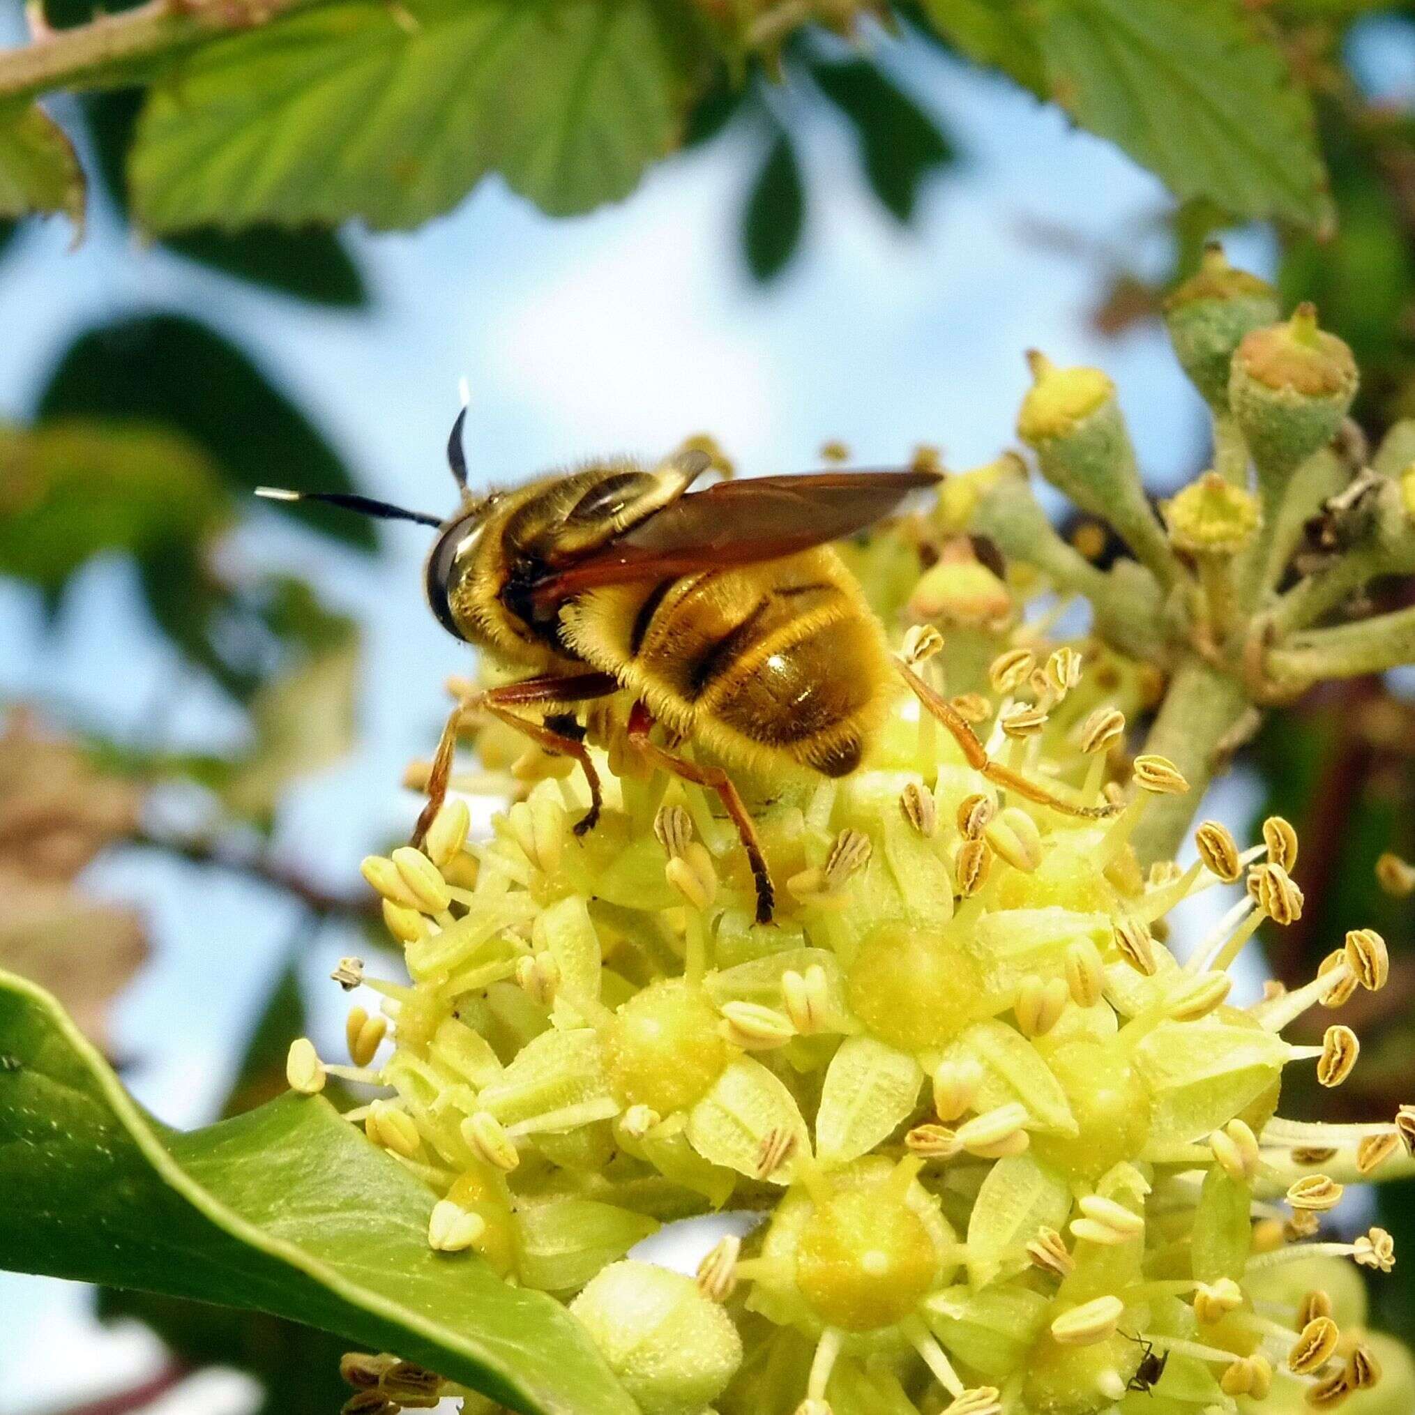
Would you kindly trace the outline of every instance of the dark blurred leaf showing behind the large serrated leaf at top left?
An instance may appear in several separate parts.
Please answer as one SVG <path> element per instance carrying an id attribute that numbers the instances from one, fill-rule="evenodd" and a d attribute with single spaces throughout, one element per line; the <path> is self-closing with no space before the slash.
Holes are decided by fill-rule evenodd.
<path id="1" fill-rule="evenodd" d="M 142 102 L 142 89 L 112 89 L 83 98 L 83 115 L 93 139 L 99 175 L 125 216 L 127 183 L 123 166 Z M 225 275 L 310 300 L 313 304 L 351 308 L 368 303 L 364 276 L 340 238 L 317 226 L 300 231 L 250 226 L 238 235 L 194 231 L 185 236 L 171 236 L 163 245 Z"/>

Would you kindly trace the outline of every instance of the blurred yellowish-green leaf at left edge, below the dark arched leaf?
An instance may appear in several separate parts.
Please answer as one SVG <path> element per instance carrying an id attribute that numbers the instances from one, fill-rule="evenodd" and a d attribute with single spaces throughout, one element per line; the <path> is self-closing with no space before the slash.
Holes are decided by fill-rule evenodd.
<path id="1" fill-rule="evenodd" d="M 57 591 L 95 555 L 156 555 L 229 516 L 216 470 L 177 433 L 98 419 L 0 426 L 0 574 Z"/>

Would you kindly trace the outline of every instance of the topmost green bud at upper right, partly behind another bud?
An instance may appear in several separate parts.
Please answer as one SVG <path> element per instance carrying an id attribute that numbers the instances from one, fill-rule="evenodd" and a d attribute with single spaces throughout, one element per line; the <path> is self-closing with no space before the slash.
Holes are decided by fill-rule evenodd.
<path id="1" fill-rule="evenodd" d="M 1180 365 L 1204 402 L 1228 410 L 1228 366 L 1247 334 L 1276 323 L 1278 291 L 1266 280 L 1235 270 L 1223 246 L 1204 248 L 1199 273 L 1165 300 L 1165 324 Z"/>

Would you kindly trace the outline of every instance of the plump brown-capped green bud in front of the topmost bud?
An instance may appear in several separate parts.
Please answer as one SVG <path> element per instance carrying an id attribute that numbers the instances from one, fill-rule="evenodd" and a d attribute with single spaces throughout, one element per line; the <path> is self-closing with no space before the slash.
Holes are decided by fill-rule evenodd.
<path id="1" fill-rule="evenodd" d="M 1317 328 L 1310 304 L 1254 330 L 1234 355 L 1228 400 L 1259 473 L 1286 475 L 1341 426 L 1356 396 L 1351 351 Z"/>

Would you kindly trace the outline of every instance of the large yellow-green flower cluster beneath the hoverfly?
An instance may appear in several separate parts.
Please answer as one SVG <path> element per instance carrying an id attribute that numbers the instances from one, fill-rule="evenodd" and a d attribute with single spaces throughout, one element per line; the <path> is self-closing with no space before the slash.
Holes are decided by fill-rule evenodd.
<path id="1" fill-rule="evenodd" d="M 993 758 L 1077 805 L 1119 798 L 1135 692 L 1082 666 L 1019 638 L 968 692 Z M 365 862 L 410 981 L 347 961 L 382 1012 L 351 1013 L 354 1067 L 297 1043 L 290 1081 L 378 1087 L 350 1119 L 437 1194 L 429 1245 L 569 1300 L 645 1415 L 1323 1409 L 1405 1360 L 1336 1261 L 1390 1268 L 1388 1235 L 1317 1225 L 1415 1124 L 1276 1115 L 1286 1065 L 1336 1085 L 1357 1053 L 1283 1029 L 1381 986 L 1384 945 L 1227 1000 L 1255 928 L 1302 910 L 1285 822 L 1247 850 L 1206 822 L 1193 866 L 1142 872 L 1170 763 L 1080 819 L 1009 799 L 901 695 L 865 768 L 754 804 L 784 886 L 763 927 L 708 798 L 601 761 L 583 838 L 577 778 L 548 775 L 488 841 L 453 798 L 423 850 Z M 1166 917 L 1235 883 L 1179 962 Z M 713 1210 L 756 1225 L 696 1282 L 627 1257 Z"/>

